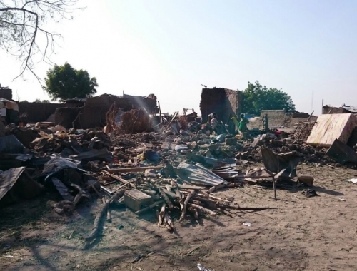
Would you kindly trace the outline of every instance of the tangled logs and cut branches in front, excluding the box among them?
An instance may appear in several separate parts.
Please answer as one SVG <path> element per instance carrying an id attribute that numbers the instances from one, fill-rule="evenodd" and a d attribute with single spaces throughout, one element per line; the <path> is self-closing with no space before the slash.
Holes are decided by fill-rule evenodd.
<path id="1" fill-rule="evenodd" d="M 232 205 L 231 199 L 218 198 L 212 195 L 218 189 L 221 188 L 234 188 L 241 186 L 241 183 L 222 183 L 211 188 L 207 186 L 198 186 L 177 183 L 174 179 L 165 178 L 137 178 L 136 182 L 129 182 L 124 180 L 118 175 L 111 174 L 102 170 L 102 173 L 109 175 L 111 178 L 123 183 L 117 190 L 110 191 L 105 188 L 110 198 L 104 200 L 104 205 L 94 220 L 94 227 L 91 233 L 86 237 L 86 241 L 83 249 L 89 247 L 92 240 L 95 239 L 101 218 L 107 213 L 108 219 L 110 219 L 109 205 L 116 201 L 116 203 L 123 203 L 125 189 L 137 189 L 146 195 L 150 195 L 154 203 L 141 210 L 136 211 L 136 215 L 140 215 L 150 209 L 159 209 L 159 225 L 164 225 L 167 230 L 174 231 L 174 220 L 171 218 L 172 211 L 177 210 L 181 212 L 181 215 L 177 217 L 179 222 L 188 218 L 198 220 L 204 215 L 216 217 L 216 215 L 227 215 L 233 218 L 234 211 L 236 210 L 266 210 L 275 208 L 242 208 L 239 205 Z M 177 212 L 176 212 L 177 213 Z"/>

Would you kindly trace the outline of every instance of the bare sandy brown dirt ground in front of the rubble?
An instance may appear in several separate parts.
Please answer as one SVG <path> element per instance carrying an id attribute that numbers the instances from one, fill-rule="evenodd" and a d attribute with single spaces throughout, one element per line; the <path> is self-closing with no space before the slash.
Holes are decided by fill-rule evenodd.
<path id="1" fill-rule="evenodd" d="M 101 237 L 82 251 L 99 199 L 84 203 L 71 217 L 54 213 L 60 198 L 45 195 L 0 210 L 1 270 L 356 270 L 357 171 L 301 165 L 316 179 L 317 197 L 283 185 L 278 200 L 260 185 L 222 190 L 241 207 L 277 207 L 237 212 L 198 222 L 174 221 L 176 232 L 158 227 L 154 212 L 139 218 L 126 208 L 111 211 Z M 177 215 L 173 214 L 174 218 Z M 243 225 L 251 223 L 251 227 Z M 139 254 L 154 252 L 139 262 Z"/>

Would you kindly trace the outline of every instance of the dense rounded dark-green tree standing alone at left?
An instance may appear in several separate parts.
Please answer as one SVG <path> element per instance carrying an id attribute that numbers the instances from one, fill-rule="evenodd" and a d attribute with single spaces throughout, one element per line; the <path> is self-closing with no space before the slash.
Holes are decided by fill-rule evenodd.
<path id="1" fill-rule="evenodd" d="M 96 93 L 96 78 L 91 78 L 88 71 L 72 68 L 67 62 L 64 66 L 55 65 L 46 74 L 44 90 L 52 101 L 86 98 Z"/>

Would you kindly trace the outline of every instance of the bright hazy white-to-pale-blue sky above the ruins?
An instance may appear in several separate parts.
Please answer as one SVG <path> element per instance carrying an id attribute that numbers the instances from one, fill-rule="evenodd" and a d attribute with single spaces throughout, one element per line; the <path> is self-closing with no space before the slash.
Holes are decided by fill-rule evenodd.
<path id="1" fill-rule="evenodd" d="M 299 111 L 357 106 L 357 1 L 81 0 L 52 60 L 83 68 L 98 93 L 156 94 L 163 112 L 199 112 L 201 83 L 286 91 Z M 48 98 L 0 52 L 0 83 L 21 100 Z M 36 65 L 44 78 L 50 66 Z"/>

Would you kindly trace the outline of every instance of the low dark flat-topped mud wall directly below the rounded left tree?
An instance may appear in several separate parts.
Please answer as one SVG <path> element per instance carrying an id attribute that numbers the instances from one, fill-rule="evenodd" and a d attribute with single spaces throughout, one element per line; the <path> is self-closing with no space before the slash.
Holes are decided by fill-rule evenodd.
<path id="1" fill-rule="evenodd" d="M 57 108 L 63 107 L 64 103 L 19 103 L 19 112 L 27 113 L 27 121 L 36 123 L 46 121 Z"/>

